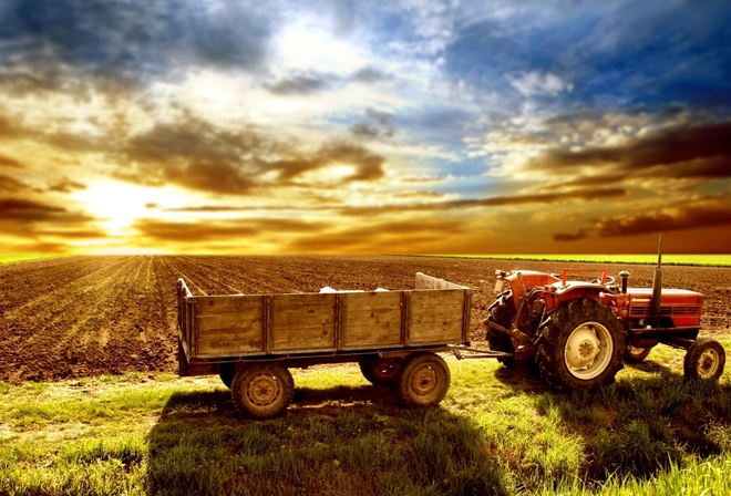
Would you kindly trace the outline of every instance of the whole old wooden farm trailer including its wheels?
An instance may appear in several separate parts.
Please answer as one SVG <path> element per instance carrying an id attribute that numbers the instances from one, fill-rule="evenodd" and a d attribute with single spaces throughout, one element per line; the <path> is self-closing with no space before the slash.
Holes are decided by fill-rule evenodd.
<path id="1" fill-rule="evenodd" d="M 359 362 L 403 402 L 435 405 L 450 385 L 436 354 L 466 349 L 473 290 L 416 273 L 414 290 L 195 296 L 177 281 L 179 375 L 219 374 L 237 409 L 282 413 L 294 395 L 289 368 Z"/>

